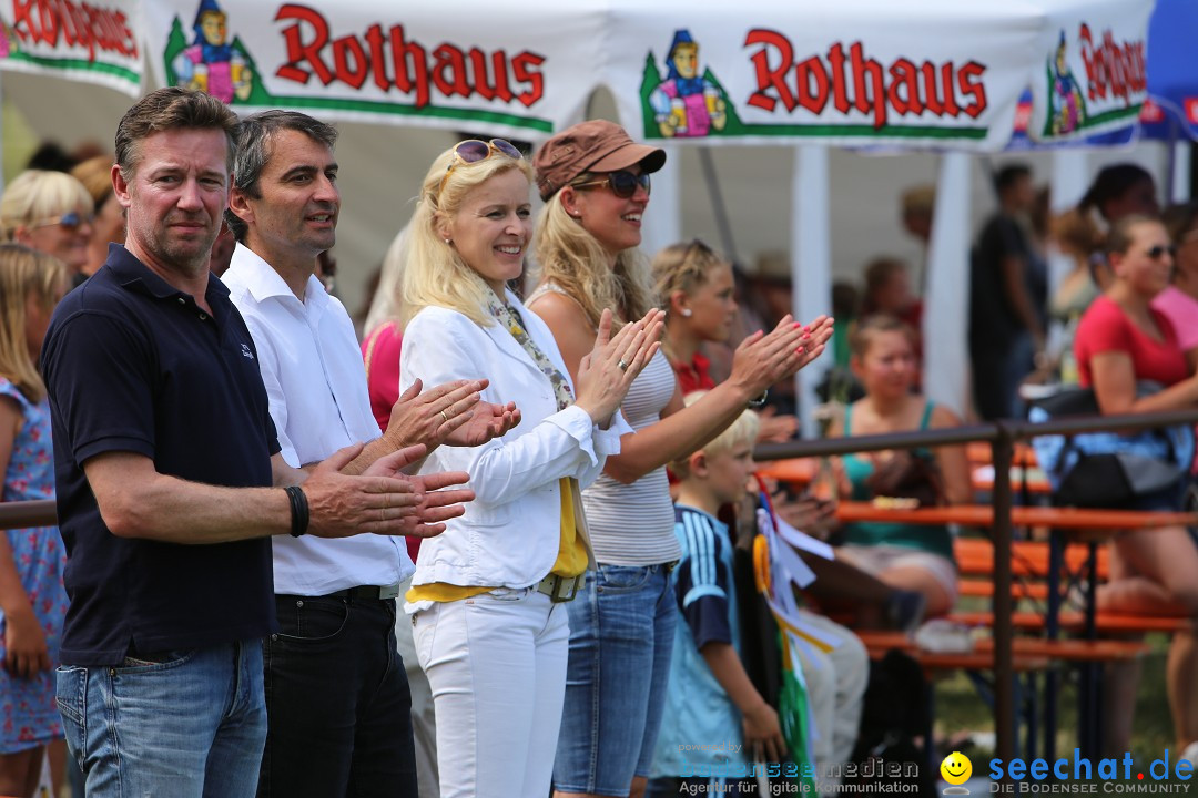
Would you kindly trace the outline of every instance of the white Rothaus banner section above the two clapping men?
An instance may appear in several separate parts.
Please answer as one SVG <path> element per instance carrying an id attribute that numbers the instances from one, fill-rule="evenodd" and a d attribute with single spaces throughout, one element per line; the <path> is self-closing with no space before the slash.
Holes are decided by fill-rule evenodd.
<path id="1" fill-rule="evenodd" d="M 157 0 L 146 14 L 162 83 L 238 110 L 543 139 L 581 118 L 599 79 L 600 17 L 571 4 Z"/>

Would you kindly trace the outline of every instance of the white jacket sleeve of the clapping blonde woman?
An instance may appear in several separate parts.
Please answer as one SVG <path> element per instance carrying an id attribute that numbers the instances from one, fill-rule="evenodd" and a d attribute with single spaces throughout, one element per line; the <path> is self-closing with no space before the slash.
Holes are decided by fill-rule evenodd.
<path id="1" fill-rule="evenodd" d="M 417 315 L 405 330 L 400 363 L 400 391 L 417 378 L 432 388 L 485 377 L 491 385 L 484 401 L 515 402 L 524 414 L 503 438 L 473 449 L 441 446 L 425 461 L 425 471 L 470 474 L 470 487 L 484 504 L 513 501 L 563 476 L 589 485 L 607 455 L 619 451 L 621 430 L 630 431 L 621 418 L 600 432 L 579 407 L 545 414 L 555 404 L 545 396 L 544 378 L 498 353 L 486 334 L 460 313 L 425 309 Z"/>

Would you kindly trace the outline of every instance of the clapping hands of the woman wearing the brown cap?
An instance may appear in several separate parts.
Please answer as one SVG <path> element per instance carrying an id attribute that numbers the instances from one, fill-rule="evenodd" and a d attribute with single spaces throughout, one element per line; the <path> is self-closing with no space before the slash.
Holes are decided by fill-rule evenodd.
<path id="1" fill-rule="evenodd" d="M 807 325 L 789 315 L 770 333 L 754 333 L 737 347 L 732 358 L 733 383 L 746 401 L 761 396 L 770 385 L 791 377 L 819 357 L 831 337 L 833 319 L 821 316 Z"/>

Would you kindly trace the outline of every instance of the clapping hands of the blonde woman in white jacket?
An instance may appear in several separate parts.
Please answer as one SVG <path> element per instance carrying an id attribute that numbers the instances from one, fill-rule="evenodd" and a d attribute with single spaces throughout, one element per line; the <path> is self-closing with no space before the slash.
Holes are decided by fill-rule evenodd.
<path id="1" fill-rule="evenodd" d="M 661 348 L 665 313 L 651 310 L 645 318 L 611 335 L 611 311 L 604 310 L 594 347 L 579 364 L 577 400 L 591 420 L 606 428 L 646 364 Z"/>

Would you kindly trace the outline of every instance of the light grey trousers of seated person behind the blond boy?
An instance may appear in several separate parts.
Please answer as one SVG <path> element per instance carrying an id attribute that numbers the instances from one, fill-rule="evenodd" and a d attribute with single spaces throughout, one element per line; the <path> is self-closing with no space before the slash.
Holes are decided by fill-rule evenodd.
<path id="1" fill-rule="evenodd" d="M 852 631 L 823 615 L 799 610 L 804 622 L 841 639 L 831 651 L 798 646 L 803 678 L 811 702 L 811 748 L 816 756 L 817 780 L 834 786 L 840 779 L 828 778 L 829 767 L 839 767 L 853 755 L 857 731 L 861 723 L 861 705 L 870 681 L 870 656 Z"/>

